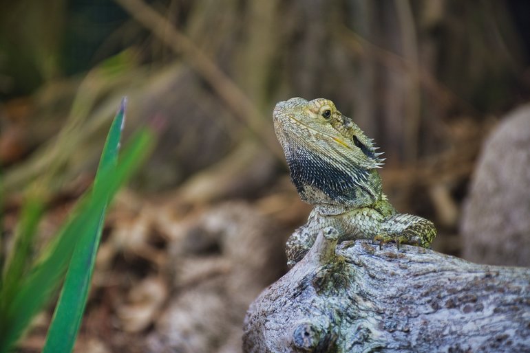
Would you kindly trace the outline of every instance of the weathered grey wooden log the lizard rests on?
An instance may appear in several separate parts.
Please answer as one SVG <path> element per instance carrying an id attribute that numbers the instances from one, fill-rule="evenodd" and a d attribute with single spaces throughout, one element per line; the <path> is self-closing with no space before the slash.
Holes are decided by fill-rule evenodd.
<path id="1" fill-rule="evenodd" d="M 530 269 L 337 238 L 254 301 L 245 352 L 530 352 Z"/>

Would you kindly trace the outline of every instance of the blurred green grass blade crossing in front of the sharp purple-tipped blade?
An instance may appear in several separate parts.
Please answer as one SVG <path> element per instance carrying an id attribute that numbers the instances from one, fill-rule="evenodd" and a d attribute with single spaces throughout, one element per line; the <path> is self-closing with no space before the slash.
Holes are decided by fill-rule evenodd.
<path id="1" fill-rule="evenodd" d="M 87 225 L 100 219 L 103 205 L 138 168 L 142 157 L 151 150 L 153 140 L 150 130 L 142 130 L 131 139 L 131 146 L 123 151 L 116 168 L 104 167 L 100 170 L 98 187 L 83 196 L 74 215 L 59 231 L 56 242 L 50 245 L 50 249 L 43 253 L 24 278 L 17 296 L 6 311 L 0 312 L 0 352 L 7 352 L 12 347 L 32 317 L 50 300 L 59 287 L 78 240 L 94 231 Z"/>

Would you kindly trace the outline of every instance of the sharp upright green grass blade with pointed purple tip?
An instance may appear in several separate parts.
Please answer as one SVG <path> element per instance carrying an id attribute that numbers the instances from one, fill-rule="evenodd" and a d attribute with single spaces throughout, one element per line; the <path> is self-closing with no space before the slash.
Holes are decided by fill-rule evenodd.
<path id="1" fill-rule="evenodd" d="M 118 161 L 120 139 L 125 123 L 125 98 L 107 135 L 107 141 L 100 158 L 98 172 L 94 180 L 94 188 L 101 185 L 101 172 L 105 168 L 113 168 Z M 91 218 L 87 223 L 87 231 L 79 239 L 61 290 L 59 302 L 48 330 L 43 353 L 71 352 L 78 334 L 81 319 L 87 302 L 87 295 L 94 271 L 94 262 L 98 251 L 105 222 L 107 203 L 103 203 L 99 216 Z"/>

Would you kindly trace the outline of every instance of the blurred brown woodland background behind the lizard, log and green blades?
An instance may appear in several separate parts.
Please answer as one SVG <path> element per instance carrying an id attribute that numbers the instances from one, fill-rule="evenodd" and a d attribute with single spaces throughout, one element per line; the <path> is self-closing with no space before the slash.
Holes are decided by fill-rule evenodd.
<path id="1" fill-rule="evenodd" d="M 3 251 L 30 185 L 41 240 L 59 227 L 121 97 L 127 133 L 162 126 L 107 218 L 77 352 L 240 351 L 310 211 L 272 126 L 296 96 L 375 139 L 385 192 L 434 221 L 433 249 L 530 266 L 528 1 L 4 0 L 0 28 Z"/>

